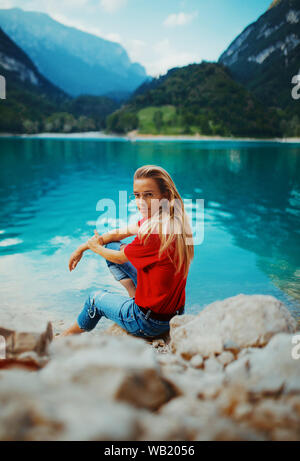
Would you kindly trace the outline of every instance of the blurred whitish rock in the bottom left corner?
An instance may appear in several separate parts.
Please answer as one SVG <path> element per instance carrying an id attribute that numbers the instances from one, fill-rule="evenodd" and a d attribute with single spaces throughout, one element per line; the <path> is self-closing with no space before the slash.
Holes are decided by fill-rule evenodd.
<path id="1" fill-rule="evenodd" d="M 0 377 L 0 440 L 135 440 L 139 413 L 77 386 L 49 388 L 37 373 Z"/>

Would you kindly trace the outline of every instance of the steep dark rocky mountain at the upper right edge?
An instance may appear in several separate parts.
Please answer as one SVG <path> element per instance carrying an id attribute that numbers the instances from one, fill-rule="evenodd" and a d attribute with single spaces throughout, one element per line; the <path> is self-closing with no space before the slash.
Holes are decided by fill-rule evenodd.
<path id="1" fill-rule="evenodd" d="M 273 1 L 218 62 L 263 104 L 284 110 L 287 118 L 300 116 L 300 103 L 291 97 L 292 77 L 300 74 L 300 0 Z"/>

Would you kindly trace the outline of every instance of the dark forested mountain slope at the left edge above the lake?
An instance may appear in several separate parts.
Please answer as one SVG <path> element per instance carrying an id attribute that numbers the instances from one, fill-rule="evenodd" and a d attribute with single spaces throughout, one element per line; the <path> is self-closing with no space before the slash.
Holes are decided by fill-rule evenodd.
<path id="1" fill-rule="evenodd" d="M 104 96 L 71 98 L 38 71 L 24 51 L 0 28 L 0 74 L 6 99 L 0 100 L 0 132 L 91 131 L 119 105 Z"/>

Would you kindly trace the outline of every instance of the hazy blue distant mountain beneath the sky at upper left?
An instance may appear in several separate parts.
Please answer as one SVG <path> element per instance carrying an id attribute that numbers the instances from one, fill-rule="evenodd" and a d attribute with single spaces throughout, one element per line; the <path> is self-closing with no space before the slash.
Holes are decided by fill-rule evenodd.
<path id="1" fill-rule="evenodd" d="M 124 48 L 45 13 L 0 10 L 0 27 L 53 84 L 72 96 L 132 93 L 148 77 Z"/>

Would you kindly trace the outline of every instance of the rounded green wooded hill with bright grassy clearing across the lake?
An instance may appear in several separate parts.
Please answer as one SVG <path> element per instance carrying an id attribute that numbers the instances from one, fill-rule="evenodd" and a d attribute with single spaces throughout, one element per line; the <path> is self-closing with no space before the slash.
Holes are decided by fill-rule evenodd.
<path id="1" fill-rule="evenodd" d="M 153 79 L 113 114 L 107 130 L 224 136 L 280 135 L 278 114 L 261 104 L 230 70 L 203 61 Z"/>

